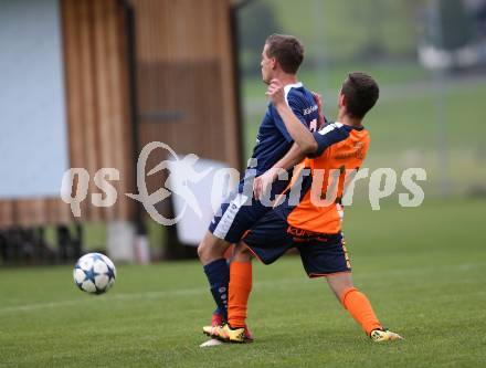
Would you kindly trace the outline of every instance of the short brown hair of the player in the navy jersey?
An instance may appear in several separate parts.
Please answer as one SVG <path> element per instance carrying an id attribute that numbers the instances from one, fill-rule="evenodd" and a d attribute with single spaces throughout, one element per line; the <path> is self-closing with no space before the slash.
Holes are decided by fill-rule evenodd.
<path id="1" fill-rule="evenodd" d="M 304 60 L 304 45 L 293 35 L 270 35 L 265 43 L 268 45 L 267 56 L 275 57 L 282 70 L 288 74 L 296 74 Z"/>

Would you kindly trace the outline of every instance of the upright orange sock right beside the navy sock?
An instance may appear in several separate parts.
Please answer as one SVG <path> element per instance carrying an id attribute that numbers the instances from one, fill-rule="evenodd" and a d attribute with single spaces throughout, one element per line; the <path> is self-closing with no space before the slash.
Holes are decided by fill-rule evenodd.
<path id="1" fill-rule="evenodd" d="M 243 327 L 252 291 L 252 262 L 231 262 L 228 322 L 231 327 Z"/>

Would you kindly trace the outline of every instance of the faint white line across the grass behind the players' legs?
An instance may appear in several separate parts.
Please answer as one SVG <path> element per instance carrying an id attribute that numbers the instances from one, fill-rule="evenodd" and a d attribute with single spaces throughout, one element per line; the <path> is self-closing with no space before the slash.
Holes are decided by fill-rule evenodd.
<path id="1" fill-rule="evenodd" d="M 376 274 L 360 274 L 358 276 L 359 281 L 361 280 L 370 280 L 370 278 L 379 278 L 383 280 L 383 274 L 385 275 L 403 275 L 404 277 L 409 277 L 411 274 L 421 274 L 421 273 L 441 273 L 441 269 L 447 270 L 450 272 L 451 270 L 454 270 L 456 272 L 468 272 L 478 267 L 485 267 L 484 263 L 462 263 L 462 264 L 455 264 L 455 265 L 444 265 L 440 267 L 431 269 L 429 266 L 424 267 L 416 267 L 416 269 L 395 269 L 395 270 L 389 270 L 387 272 L 379 272 Z M 361 283 L 361 282 L 360 282 Z M 273 288 L 273 290 L 283 290 L 287 288 L 287 285 L 289 284 L 298 284 L 299 288 L 306 288 L 306 287 L 314 287 L 313 284 L 310 284 L 306 277 L 287 277 L 287 278 L 275 278 L 275 280 L 267 280 L 267 281 L 261 281 L 255 282 L 253 284 L 253 287 L 255 290 L 258 288 Z M 74 287 L 74 286 L 73 286 Z M 209 293 L 208 287 L 194 287 L 194 288 L 182 288 L 182 290 L 169 290 L 169 291 L 159 291 L 159 292 L 144 292 L 144 293 L 125 293 L 125 294 L 115 294 L 115 295 L 104 295 L 98 296 L 94 295 L 93 298 L 96 298 L 99 302 L 112 302 L 112 301 L 134 301 L 134 299 L 157 299 L 157 298 L 167 298 L 172 296 L 192 296 L 192 295 L 204 295 Z M 208 294 L 209 295 L 209 294 Z M 43 308 L 57 308 L 57 307 L 66 307 L 66 306 L 74 306 L 78 305 L 81 303 L 87 303 L 92 302 L 92 298 L 77 298 L 77 299 L 70 299 L 70 301 L 61 301 L 61 302 L 51 302 L 51 303 L 35 303 L 35 304 L 25 304 L 25 305 L 12 305 L 7 307 L 0 308 L 0 315 L 2 314 L 9 314 L 9 313 L 18 313 L 18 312 L 32 312 Z"/>

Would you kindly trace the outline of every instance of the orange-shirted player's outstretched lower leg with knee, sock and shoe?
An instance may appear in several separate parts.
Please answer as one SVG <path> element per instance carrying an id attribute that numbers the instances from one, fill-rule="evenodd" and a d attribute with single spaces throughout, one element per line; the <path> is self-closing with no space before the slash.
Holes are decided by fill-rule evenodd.
<path id="1" fill-rule="evenodd" d="M 383 328 L 368 297 L 352 285 L 350 272 L 328 275 L 327 282 L 342 306 L 348 309 L 349 314 L 361 325 L 361 328 L 373 341 L 382 343 L 402 338 L 399 334 Z"/>

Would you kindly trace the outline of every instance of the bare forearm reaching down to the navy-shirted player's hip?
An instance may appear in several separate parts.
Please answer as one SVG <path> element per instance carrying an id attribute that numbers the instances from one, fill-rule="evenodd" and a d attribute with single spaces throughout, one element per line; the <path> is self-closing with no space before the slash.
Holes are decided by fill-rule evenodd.
<path id="1" fill-rule="evenodd" d="M 290 149 L 275 162 L 272 168 L 266 170 L 260 177 L 253 181 L 253 193 L 256 199 L 261 199 L 263 193 L 272 186 L 272 183 L 278 178 L 279 172 L 292 169 L 306 157 L 306 154 L 302 151 L 297 144 L 293 144 Z"/>

